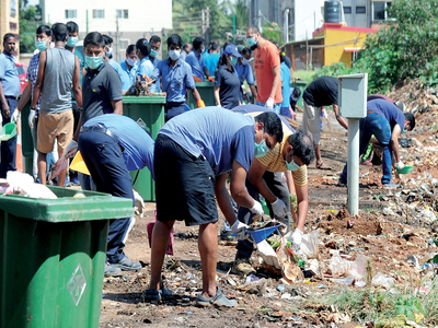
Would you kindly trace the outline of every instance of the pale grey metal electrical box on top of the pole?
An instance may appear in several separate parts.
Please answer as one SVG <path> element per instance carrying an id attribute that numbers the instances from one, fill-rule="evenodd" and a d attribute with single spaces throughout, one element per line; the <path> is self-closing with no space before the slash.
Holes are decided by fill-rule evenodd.
<path id="1" fill-rule="evenodd" d="M 341 116 L 364 118 L 367 116 L 368 73 L 341 75 L 338 104 Z"/>

